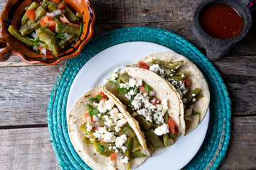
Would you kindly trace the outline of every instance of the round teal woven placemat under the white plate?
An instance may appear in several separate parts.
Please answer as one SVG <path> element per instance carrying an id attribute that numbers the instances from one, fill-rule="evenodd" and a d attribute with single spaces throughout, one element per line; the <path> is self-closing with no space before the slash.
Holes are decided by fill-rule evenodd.
<path id="1" fill-rule="evenodd" d="M 192 60 L 206 77 L 210 88 L 210 123 L 201 149 L 183 169 L 217 169 L 230 140 L 230 98 L 213 64 L 190 42 L 168 30 L 132 27 L 113 30 L 85 45 L 78 57 L 68 60 L 60 71 L 50 94 L 48 128 L 53 150 L 61 169 L 90 169 L 80 159 L 68 137 L 66 104 L 70 86 L 82 66 L 107 47 L 122 42 L 147 41 L 169 47 Z M 193 144 L 191 144 L 193 145 Z"/>

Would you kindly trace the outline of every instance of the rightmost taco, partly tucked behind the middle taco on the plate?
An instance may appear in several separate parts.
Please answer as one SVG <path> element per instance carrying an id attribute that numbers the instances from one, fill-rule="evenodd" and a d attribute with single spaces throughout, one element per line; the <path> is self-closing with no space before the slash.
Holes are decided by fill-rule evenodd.
<path id="1" fill-rule="evenodd" d="M 181 119 L 186 127 L 185 135 L 194 130 L 203 120 L 210 103 L 210 91 L 202 72 L 193 62 L 173 52 L 159 52 L 138 60 L 134 66 L 149 69 L 169 81 L 180 96 Z M 181 121 L 182 123 L 183 121 Z"/>

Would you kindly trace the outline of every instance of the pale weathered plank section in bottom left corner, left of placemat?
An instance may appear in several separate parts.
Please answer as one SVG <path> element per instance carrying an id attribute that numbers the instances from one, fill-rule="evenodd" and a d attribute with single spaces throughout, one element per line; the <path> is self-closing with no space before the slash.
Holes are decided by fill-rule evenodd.
<path id="1" fill-rule="evenodd" d="M 60 169 L 48 128 L 0 130 L 0 169 Z"/>

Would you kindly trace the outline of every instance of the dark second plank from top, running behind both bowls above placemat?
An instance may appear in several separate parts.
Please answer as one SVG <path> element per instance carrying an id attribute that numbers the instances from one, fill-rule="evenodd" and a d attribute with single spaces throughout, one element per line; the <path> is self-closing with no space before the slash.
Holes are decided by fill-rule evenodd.
<path id="1" fill-rule="evenodd" d="M 115 30 L 118 28 L 132 27 L 132 26 L 148 26 L 154 28 L 162 28 L 166 30 L 170 30 L 178 35 L 181 35 L 186 40 L 196 45 L 204 54 L 205 50 L 201 45 L 195 40 L 193 34 L 191 33 L 191 21 L 176 21 L 176 22 L 166 22 L 166 23 L 134 23 L 134 24 L 110 24 L 110 25 L 95 25 L 95 35 L 101 35 L 102 33 L 106 33 L 110 30 Z M 256 55 L 256 33 L 250 31 L 250 33 L 243 39 L 240 44 L 235 47 L 230 53 L 223 57 L 226 60 L 230 60 L 230 56 L 245 56 L 245 55 Z M 236 57 L 240 58 L 240 57 Z M 65 63 L 67 60 L 60 62 L 60 64 Z M 221 60 L 219 60 L 221 61 Z M 239 62 L 239 61 L 238 61 Z M 242 60 L 240 61 L 242 62 Z M 6 62 L 0 62 L 0 67 L 20 67 L 20 66 L 28 66 L 23 62 L 19 57 L 13 55 Z"/>

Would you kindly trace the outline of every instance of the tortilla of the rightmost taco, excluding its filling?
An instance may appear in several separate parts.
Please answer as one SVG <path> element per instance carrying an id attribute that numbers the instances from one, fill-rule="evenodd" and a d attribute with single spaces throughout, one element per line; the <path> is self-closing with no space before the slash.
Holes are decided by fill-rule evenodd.
<path id="1" fill-rule="evenodd" d="M 201 119 L 199 120 L 198 115 L 191 115 L 191 120 L 186 120 L 186 123 L 184 123 L 184 111 L 183 111 L 183 104 L 182 104 L 182 98 L 181 99 L 181 127 L 182 129 L 185 130 L 185 135 L 188 135 L 189 132 L 192 130 L 196 129 L 198 126 L 198 120 L 201 122 L 203 118 L 206 115 L 206 112 L 208 110 L 208 106 L 210 103 L 210 91 L 208 88 L 208 84 L 206 79 L 203 77 L 202 72 L 198 67 L 196 67 L 196 64 L 193 64 L 190 60 L 188 60 L 186 57 L 183 55 L 178 55 L 173 52 L 159 52 L 151 55 L 147 55 L 145 57 L 142 57 L 139 59 L 134 66 L 139 67 L 139 62 L 151 62 L 153 59 L 155 60 L 162 60 L 166 62 L 178 62 L 183 60 L 183 64 L 181 67 L 178 68 L 179 72 L 186 72 L 187 73 L 187 78 L 191 79 L 192 85 L 189 87 L 190 90 L 193 90 L 195 88 L 201 89 L 201 94 L 203 94 L 203 98 L 200 98 L 196 103 L 193 104 L 191 108 L 193 108 L 194 111 L 197 111 L 201 113 Z M 164 79 L 164 78 L 161 78 Z M 167 81 L 168 82 L 168 81 Z M 169 82 L 168 82 L 169 83 Z M 169 86 L 173 88 L 169 83 Z M 178 92 L 177 92 L 178 94 Z M 179 94 L 178 94 L 179 95 Z"/>

